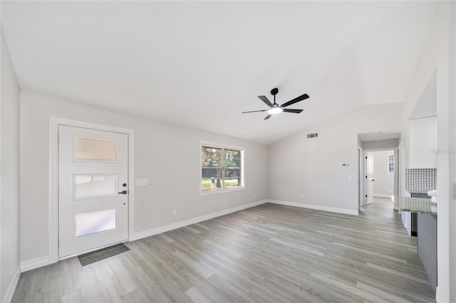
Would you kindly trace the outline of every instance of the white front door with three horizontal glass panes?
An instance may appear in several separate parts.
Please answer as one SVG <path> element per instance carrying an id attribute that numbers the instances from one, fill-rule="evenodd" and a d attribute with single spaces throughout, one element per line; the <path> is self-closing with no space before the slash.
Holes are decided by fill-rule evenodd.
<path id="1" fill-rule="evenodd" d="M 58 127 L 58 257 L 128 240 L 128 134 Z"/>

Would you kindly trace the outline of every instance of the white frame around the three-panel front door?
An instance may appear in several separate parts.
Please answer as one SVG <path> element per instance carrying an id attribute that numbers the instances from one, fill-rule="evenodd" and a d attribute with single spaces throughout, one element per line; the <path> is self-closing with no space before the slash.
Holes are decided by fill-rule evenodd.
<path id="1" fill-rule="evenodd" d="M 49 117 L 49 209 L 48 209 L 48 264 L 58 262 L 58 125 L 98 129 L 128 134 L 128 240 L 133 239 L 135 226 L 135 132 L 132 129 Z"/>

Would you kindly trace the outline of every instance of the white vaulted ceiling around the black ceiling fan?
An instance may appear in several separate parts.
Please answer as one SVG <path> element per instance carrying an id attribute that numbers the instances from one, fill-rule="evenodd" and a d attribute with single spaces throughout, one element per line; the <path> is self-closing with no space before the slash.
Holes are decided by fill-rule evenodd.
<path id="1" fill-rule="evenodd" d="M 435 1 L 1 1 L 22 90 L 269 144 L 403 102 Z M 308 100 L 263 120 L 257 95 Z M 381 129 L 379 129 L 381 131 Z"/>

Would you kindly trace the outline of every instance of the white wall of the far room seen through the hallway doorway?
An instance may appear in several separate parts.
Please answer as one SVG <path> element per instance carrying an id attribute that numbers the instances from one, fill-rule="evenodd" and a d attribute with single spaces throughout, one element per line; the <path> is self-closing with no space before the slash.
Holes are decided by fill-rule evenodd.
<path id="1" fill-rule="evenodd" d="M 388 174 L 388 156 L 394 151 L 370 151 L 373 154 L 373 195 L 390 197 L 394 194 L 394 174 Z"/>

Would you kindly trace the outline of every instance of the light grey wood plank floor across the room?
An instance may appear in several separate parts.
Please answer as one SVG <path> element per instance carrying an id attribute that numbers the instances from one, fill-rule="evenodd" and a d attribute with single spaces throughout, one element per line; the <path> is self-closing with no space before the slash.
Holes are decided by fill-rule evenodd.
<path id="1" fill-rule="evenodd" d="M 24 272 L 12 302 L 435 302 L 388 199 L 348 216 L 264 204 Z"/>

